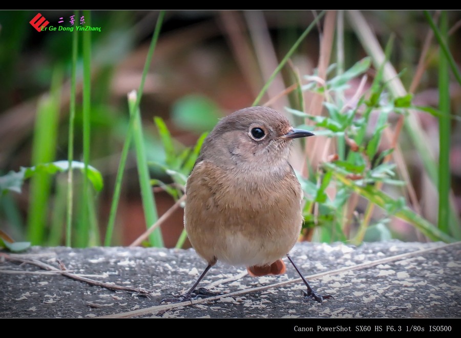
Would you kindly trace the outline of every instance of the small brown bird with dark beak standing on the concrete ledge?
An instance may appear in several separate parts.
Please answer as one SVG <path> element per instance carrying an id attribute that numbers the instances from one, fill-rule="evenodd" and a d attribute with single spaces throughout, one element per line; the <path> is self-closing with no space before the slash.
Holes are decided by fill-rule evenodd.
<path id="1" fill-rule="evenodd" d="M 181 300 L 200 294 L 194 290 L 217 261 L 262 276 L 283 274 L 285 255 L 307 286 L 305 300 L 332 298 L 317 294 L 288 254 L 303 221 L 290 144 L 312 135 L 274 109 L 251 107 L 224 117 L 206 137 L 186 184 L 184 227 L 208 266 Z"/>

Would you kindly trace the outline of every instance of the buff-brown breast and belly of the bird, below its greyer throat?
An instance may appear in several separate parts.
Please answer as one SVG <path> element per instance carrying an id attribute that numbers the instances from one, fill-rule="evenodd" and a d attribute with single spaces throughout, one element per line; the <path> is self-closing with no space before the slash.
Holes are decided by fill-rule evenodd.
<path id="1" fill-rule="evenodd" d="M 300 233 L 302 192 L 291 170 L 274 177 L 196 165 L 186 186 L 184 226 L 196 251 L 233 265 L 270 264 Z"/>

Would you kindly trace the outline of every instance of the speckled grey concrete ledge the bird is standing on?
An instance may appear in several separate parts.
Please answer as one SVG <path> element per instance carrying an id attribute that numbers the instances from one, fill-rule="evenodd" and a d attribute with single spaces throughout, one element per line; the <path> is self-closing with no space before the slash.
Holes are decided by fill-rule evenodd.
<path id="1" fill-rule="evenodd" d="M 313 288 L 334 300 L 304 302 L 287 263 L 281 276 L 250 277 L 218 262 L 199 285 L 221 295 L 164 304 L 205 268 L 193 250 L 33 247 L 0 253 L 0 317 L 431 318 L 461 317 L 461 243 L 368 243 L 350 247 L 299 243 L 291 256 Z M 14 260 L 134 290 L 110 290 Z M 139 289 L 139 290 L 138 290 Z M 139 293 L 137 291 L 143 291 Z"/>

